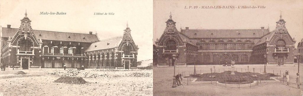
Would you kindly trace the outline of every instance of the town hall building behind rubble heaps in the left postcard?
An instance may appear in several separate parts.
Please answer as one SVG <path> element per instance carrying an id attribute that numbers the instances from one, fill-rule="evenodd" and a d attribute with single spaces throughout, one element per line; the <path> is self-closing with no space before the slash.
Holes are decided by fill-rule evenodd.
<path id="1" fill-rule="evenodd" d="M 0 27 L 1 62 L 9 67 L 136 69 L 138 46 L 131 29 L 123 36 L 100 40 L 96 34 L 33 30 L 31 20 L 20 20 L 19 28 Z"/>

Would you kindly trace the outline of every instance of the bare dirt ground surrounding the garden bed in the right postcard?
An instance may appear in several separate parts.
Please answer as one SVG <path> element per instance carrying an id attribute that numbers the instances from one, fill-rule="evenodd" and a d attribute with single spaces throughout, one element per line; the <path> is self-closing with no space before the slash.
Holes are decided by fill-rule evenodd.
<path id="1" fill-rule="evenodd" d="M 197 73 L 200 74 L 200 70 L 202 73 L 210 73 L 210 67 L 196 67 Z M 218 67 L 216 67 L 218 68 Z M 224 67 L 220 67 L 220 71 L 222 72 Z M 237 67 L 240 68 L 241 67 Z M 242 67 L 247 68 L 247 67 Z M 252 67 L 251 71 L 252 71 Z M 254 67 L 256 70 L 260 71 L 261 68 L 263 71 L 264 67 Z M 300 66 L 301 73 L 301 82 L 302 82 L 302 74 L 303 74 L 303 66 Z M 255 95 L 270 95 L 270 96 L 302 96 L 302 88 L 296 89 L 297 85 L 295 82 L 295 76 L 298 72 L 298 67 L 266 67 L 267 72 L 276 72 L 289 70 L 290 71 L 290 84 L 286 86 L 286 80 L 283 83 L 261 83 L 258 86 L 251 87 L 223 87 L 218 86 L 216 84 L 190 84 L 186 85 L 182 83 L 184 86 L 177 86 L 172 88 L 173 82 L 173 74 L 174 68 L 153 68 L 153 95 L 154 96 L 255 96 Z M 176 74 L 182 74 L 183 71 L 192 71 L 194 67 L 179 67 L 176 68 Z M 279 73 L 280 74 L 280 73 Z M 183 80 L 187 83 L 187 80 Z M 190 82 L 190 81 L 189 81 Z"/>

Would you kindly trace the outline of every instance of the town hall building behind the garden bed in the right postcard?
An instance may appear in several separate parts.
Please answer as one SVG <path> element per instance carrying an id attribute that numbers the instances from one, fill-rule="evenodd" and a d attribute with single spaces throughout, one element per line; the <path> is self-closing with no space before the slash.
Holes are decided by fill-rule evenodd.
<path id="1" fill-rule="evenodd" d="M 261 29 L 178 30 L 170 18 L 162 36 L 155 41 L 158 67 L 174 65 L 218 65 L 294 63 L 295 38 L 291 38 L 280 15 L 272 31 Z"/>

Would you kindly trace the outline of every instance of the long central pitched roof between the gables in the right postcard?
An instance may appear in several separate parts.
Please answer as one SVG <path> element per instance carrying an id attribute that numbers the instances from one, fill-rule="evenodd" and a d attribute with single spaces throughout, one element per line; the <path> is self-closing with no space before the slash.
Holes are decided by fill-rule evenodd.
<path id="1" fill-rule="evenodd" d="M 261 38 L 268 29 L 197 29 L 181 30 L 189 38 Z M 213 35 L 211 35 L 211 33 Z M 240 35 L 238 35 L 240 33 Z M 255 35 L 254 35 L 255 33 Z M 196 35 L 195 35 L 196 34 Z"/>

